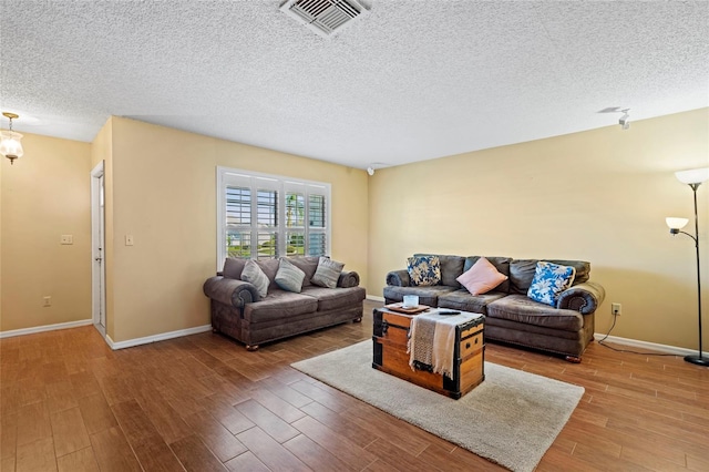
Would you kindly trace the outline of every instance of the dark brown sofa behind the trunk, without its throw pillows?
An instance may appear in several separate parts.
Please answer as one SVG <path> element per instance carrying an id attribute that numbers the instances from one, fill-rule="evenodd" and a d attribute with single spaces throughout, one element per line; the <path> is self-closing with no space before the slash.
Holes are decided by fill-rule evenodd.
<path id="1" fill-rule="evenodd" d="M 402 301 L 404 295 L 418 295 L 421 305 L 485 315 L 485 339 L 510 342 L 565 356 L 579 362 L 594 336 L 594 314 L 605 298 L 604 288 L 588 281 L 590 264 L 582 260 L 512 259 L 486 257 L 497 271 L 508 277 L 490 293 L 474 296 L 456 278 L 470 269 L 480 256 L 439 255 L 439 285 L 411 286 L 405 269 L 387 275 L 384 300 Z M 555 307 L 530 299 L 526 294 L 538 260 L 573 266 L 576 277 Z"/>

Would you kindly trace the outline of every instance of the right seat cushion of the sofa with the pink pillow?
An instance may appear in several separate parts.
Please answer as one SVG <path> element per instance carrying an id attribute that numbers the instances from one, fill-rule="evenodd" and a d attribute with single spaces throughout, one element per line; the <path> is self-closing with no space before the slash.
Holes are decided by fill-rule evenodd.
<path id="1" fill-rule="evenodd" d="M 584 326 L 584 316 L 578 311 L 552 308 L 525 295 L 508 295 L 487 304 L 487 316 L 566 331 L 578 331 Z"/>

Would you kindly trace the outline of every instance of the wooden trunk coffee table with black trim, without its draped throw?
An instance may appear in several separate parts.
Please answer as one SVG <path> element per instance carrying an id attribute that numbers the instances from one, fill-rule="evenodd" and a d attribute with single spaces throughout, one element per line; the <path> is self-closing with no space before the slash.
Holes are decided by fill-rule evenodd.
<path id="1" fill-rule="evenodd" d="M 438 393 L 459 399 L 485 379 L 484 319 L 479 315 L 455 327 L 453 378 L 433 373 L 430 366 L 412 370 L 407 345 L 411 319 L 417 315 L 394 312 L 386 308 L 373 311 L 372 367 Z"/>

